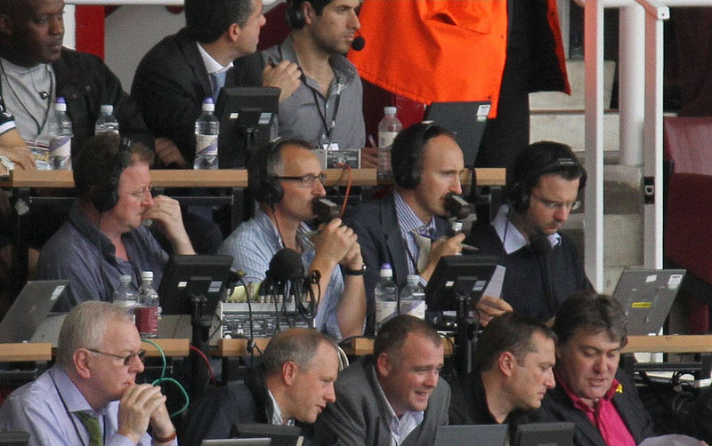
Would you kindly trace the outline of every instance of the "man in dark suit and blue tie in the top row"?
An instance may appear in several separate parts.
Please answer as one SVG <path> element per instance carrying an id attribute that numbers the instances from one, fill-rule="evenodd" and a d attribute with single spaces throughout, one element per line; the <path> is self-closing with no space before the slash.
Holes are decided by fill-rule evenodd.
<path id="1" fill-rule="evenodd" d="M 186 27 L 167 36 L 143 56 L 132 96 L 151 131 L 173 141 L 157 150 L 168 166 L 188 167 L 195 156 L 194 126 L 206 97 L 217 99 L 234 86 L 232 62 L 256 51 L 265 23 L 262 0 L 186 0 Z M 264 85 L 279 86 L 280 76 L 296 76 L 285 63 L 265 68 Z"/>

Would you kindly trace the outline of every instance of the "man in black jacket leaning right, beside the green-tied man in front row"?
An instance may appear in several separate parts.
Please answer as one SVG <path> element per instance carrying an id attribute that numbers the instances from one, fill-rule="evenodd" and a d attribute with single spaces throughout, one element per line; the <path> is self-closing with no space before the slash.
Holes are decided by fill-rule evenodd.
<path id="1" fill-rule="evenodd" d="M 197 446 L 206 438 L 228 438 L 231 427 L 240 423 L 308 428 L 327 403 L 336 400 L 338 370 L 336 346 L 330 338 L 311 329 L 281 331 L 271 338 L 244 384 L 206 391 L 189 414 L 182 444 Z"/>

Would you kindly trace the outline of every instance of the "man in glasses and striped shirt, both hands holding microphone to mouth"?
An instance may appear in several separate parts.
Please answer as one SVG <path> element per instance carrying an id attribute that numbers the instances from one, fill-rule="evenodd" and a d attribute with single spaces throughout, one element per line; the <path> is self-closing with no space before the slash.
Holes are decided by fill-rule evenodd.
<path id="1" fill-rule="evenodd" d="M 366 311 L 360 245 L 341 219 L 317 232 L 304 223 L 315 217 L 314 199 L 326 195 L 325 173 L 309 147 L 300 139 L 276 139 L 257 151 L 247 168 L 247 186 L 260 206 L 218 252 L 231 255 L 233 269 L 247 273 L 251 283 L 264 280 L 275 253 L 297 251 L 305 270 L 320 273 L 312 287 L 320 294 L 316 329 L 336 339 L 357 336 Z"/>

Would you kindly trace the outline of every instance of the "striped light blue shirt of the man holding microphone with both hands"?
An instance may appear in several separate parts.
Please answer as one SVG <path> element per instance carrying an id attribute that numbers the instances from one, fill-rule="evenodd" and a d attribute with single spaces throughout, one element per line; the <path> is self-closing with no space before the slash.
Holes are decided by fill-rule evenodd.
<path id="1" fill-rule="evenodd" d="M 311 229 L 305 223 L 301 223 L 297 228 L 296 238 L 302 249 L 304 270 L 309 270 L 316 255 L 314 245 L 305 236 L 309 232 Z M 255 283 L 264 280 L 266 271 L 270 268 L 270 260 L 282 248 L 277 227 L 262 209 L 258 209 L 255 218 L 235 229 L 220 245 L 218 252 L 231 255 L 232 269 L 245 271 L 247 273 L 244 277 L 245 282 Z M 314 325 L 317 330 L 326 333 L 329 337 L 340 339 L 341 330 L 336 319 L 336 307 L 344 293 L 344 277 L 338 266 L 331 273 L 327 289 L 321 292 Z"/>

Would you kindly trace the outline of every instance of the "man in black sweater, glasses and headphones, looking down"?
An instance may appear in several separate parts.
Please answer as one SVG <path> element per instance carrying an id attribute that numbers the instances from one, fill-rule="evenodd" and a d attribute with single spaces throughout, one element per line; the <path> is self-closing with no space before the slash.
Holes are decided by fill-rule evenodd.
<path id="1" fill-rule="evenodd" d="M 576 246 L 559 233 L 581 204 L 586 177 L 571 148 L 558 142 L 536 142 L 519 155 L 507 203 L 468 240 L 506 267 L 502 299 L 485 296 L 477 305 L 483 325 L 512 309 L 546 322 L 564 299 L 591 288 Z"/>

